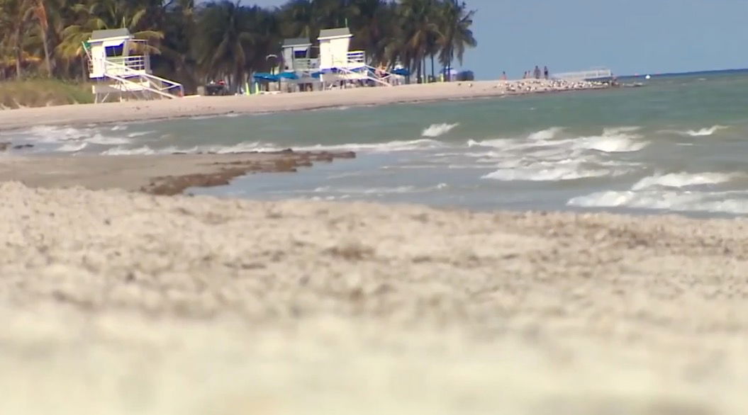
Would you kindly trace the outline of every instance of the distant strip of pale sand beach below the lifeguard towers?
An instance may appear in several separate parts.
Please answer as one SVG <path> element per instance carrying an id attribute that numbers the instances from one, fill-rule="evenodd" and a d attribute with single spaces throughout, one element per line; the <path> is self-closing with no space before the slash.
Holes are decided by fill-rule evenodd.
<path id="1" fill-rule="evenodd" d="M 527 90 L 530 88 L 531 90 Z M 186 117 L 272 114 L 313 111 L 346 106 L 417 104 L 442 100 L 469 100 L 536 93 L 580 92 L 609 87 L 590 82 L 560 83 L 524 79 L 518 81 L 442 82 L 396 87 L 361 87 L 304 93 L 253 96 L 188 96 L 181 99 L 57 105 L 0 111 L 3 130 L 42 125 L 137 123 Z"/>

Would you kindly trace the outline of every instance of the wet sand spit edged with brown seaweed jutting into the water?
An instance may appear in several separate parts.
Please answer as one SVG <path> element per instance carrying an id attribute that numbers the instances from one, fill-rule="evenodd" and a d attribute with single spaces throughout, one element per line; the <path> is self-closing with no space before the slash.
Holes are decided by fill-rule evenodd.
<path id="1" fill-rule="evenodd" d="M 173 196 L 187 188 L 228 185 L 255 173 L 295 173 L 315 163 L 355 159 L 353 152 L 165 154 L 148 156 L 7 156 L 0 159 L 0 183 L 34 188 L 120 189 Z"/>

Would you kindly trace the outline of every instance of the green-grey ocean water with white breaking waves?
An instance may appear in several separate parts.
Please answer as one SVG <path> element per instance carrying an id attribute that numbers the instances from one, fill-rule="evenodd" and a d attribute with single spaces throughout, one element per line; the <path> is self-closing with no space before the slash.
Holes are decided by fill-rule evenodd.
<path id="1" fill-rule="evenodd" d="M 637 79 L 640 81 L 640 79 Z M 194 194 L 470 209 L 748 214 L 748 75 L 418 105 L 0 132 L 26 153 L 354 150 Z M 21 151 L 21 150 L 19 150 Z"/>

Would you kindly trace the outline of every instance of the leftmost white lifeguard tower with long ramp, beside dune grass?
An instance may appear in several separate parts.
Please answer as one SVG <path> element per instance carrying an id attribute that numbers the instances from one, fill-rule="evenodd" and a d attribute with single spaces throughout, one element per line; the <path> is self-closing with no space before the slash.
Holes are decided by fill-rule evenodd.
<path id="1" fill-rule="evenodd" d="M 126 29 L 97 30 L 83 43 L 88 56 L 88 76 L 94 102 L 108 96 L 123 99 L 161 99 L 184 96 L 182 84 L 154 76 L 147 41 L 135 39 Z"/>

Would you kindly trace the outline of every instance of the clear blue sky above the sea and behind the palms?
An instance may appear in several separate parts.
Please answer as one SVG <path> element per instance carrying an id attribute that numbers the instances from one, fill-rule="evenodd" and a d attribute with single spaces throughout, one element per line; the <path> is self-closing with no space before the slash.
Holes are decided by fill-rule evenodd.
<path id="1" fill-rule="evenodd" d="M 243 0 L 280 5 L 283 0 Z M 479 79 L 536 64 L 551 72 L 609 67 L 617 75 L 748 67 L 748 0 L 466 0 Z"/>

